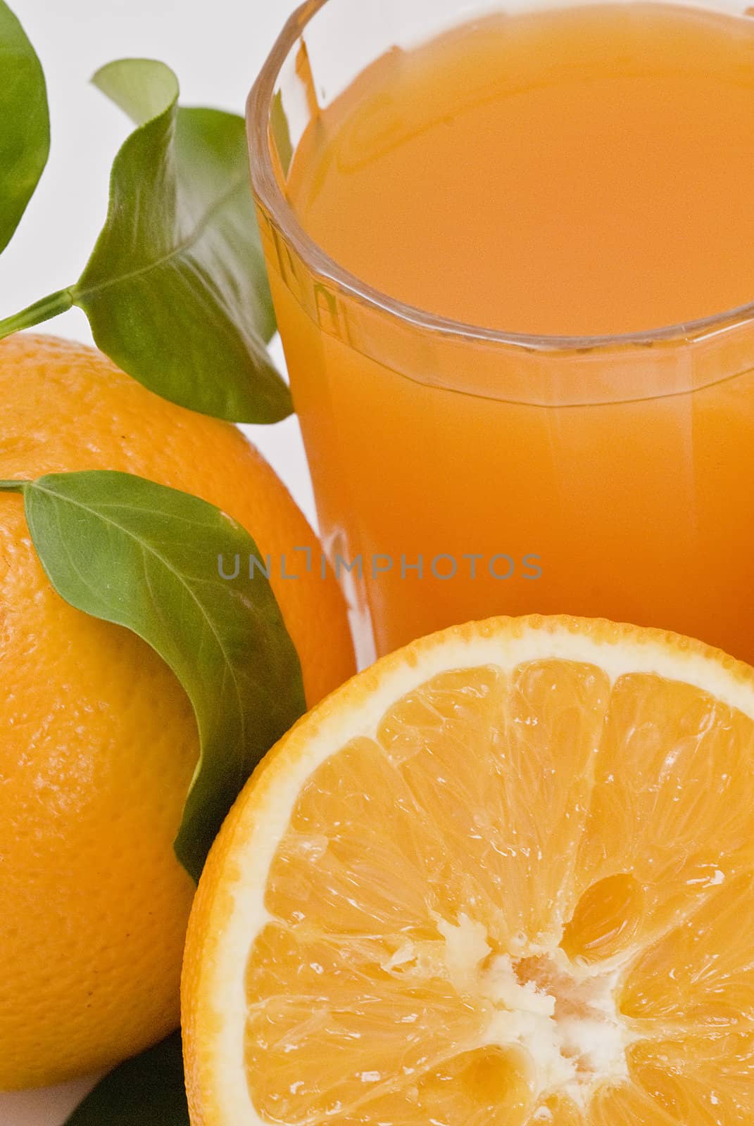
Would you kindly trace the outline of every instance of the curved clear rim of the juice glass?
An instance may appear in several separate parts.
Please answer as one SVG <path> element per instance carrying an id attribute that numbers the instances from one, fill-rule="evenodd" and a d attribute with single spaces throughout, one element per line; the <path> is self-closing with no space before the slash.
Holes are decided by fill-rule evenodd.
<path id="1" fill-rule="evenodd" d="M 331 258 L 301 224 L 295 211 L 285 197 L 278 182 L 270 152 L 269 116 L 275 83 L 285 60 L 302 38 L 307 26 L 329 0 L 304 0 L 287 18 L 281 29 L 265 63 L 251 87 L 246 107 L 247 133 L 249 140 L 251 185 L 254 191 L 278 226 L 284 238 L 292 244 L 301 260 L 319 278 L 331 283 L 346 296 L 373 309 L 379 309 L 397 320 L 440 336 L 452 336 L 485 341 L 490 345 L 522 348 L 529 351 L 585 351 L 620 347 L 640 347 L 655 343 L 688 343 L 703 339 L 726 329 L 754 320 L 754 301 L 722 313 L 657 329 L 600 336 L 553 336 L 511 332 L 489 329 L 465 321 L 432 313 L 417 305 L 410 305 L 352 274 Z M 573 0 L 568 0 L 573 2 Z M 577 0 L 576 0 L 577 2 Z M 665 0 L 672 2 L 672 0 Z M 697 6 L 697 0 L 692 0 Z M 503 7 L 503 5 L 500 5 Z"/>

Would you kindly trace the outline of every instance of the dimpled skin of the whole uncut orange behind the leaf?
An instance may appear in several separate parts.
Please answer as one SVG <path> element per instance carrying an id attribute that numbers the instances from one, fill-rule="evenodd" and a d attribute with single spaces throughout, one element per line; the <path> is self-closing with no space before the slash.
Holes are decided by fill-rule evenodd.
<path id="1" fill-rule="evenodd" d="M 94 349 L 0 343 L 0 479 L 121 470 L 222 508 L 263 555 L 319 551 L 236 428 Z M 272 582 L 311 705 L 353 672 L 345 605 L 331 575 Z M 12 493 L 0 494 L 0 1090 L 17 1090 L 109 1066 L 178 1024 L 194 887 L 172 839 L 197 735 L 167 665 L 53 591 Z"/>

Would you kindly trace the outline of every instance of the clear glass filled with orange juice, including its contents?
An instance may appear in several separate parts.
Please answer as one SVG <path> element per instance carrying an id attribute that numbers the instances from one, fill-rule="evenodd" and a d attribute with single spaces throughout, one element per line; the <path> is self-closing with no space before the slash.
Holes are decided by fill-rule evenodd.
<path id="1" fill-rule="evenodd" d="M 539 611 L 754 661 L 754 20 L 313 0 L 248 124 L 362 658 Z"/>

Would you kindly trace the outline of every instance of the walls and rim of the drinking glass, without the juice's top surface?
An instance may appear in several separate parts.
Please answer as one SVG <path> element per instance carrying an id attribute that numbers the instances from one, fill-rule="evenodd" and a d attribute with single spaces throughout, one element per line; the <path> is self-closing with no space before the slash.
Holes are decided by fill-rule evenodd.
<path id="1" fill-rule="evenodd" d="M 565 613 L 754 662 L 754 305 L 640 334 L 490 331 L 376 292 L 289 203 L 304 129 L 365 66 L 497 10 L 312 0 L 249 97 L 264 252 L 361 659 L 472 618 Z"/>

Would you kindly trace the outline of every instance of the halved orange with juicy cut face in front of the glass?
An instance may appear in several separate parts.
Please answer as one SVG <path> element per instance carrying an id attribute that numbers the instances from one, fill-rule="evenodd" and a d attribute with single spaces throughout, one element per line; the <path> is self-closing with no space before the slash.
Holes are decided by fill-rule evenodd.
<path id="1" fill-rule="evenodd" d="M 754 1120 L 754 672 L 498 618 L 267 756 L 184 962 L 194 1126 Z"/>

